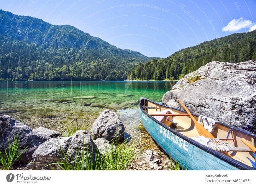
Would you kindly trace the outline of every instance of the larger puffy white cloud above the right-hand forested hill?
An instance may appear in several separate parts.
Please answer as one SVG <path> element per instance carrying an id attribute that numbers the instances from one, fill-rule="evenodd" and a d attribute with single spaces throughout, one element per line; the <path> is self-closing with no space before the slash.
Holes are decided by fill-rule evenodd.
<path id="1" fill-rule="evenodd" d="M 234 32 L 234 31 L 238 31 L 242 28 L 250 28 L 250 27 L 254 28 L 254 26 L 253 26 L 252 21 L 246 20 L 243 18 L 239 18 L 239 19 L 233 19 L 232 21 L 230 21 L 227 26 L 222 28 L 222 31 Z"/>

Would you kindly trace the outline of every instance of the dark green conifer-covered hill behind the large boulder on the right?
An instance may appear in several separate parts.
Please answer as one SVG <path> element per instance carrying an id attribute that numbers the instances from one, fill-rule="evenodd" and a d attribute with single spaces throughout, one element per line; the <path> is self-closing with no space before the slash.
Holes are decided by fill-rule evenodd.
<path id="1" fill-rule="evenodd" d="M 256 31 L 236 33 L 184 48 L 165 59 L 153 59 L 132 69 L 131 80 L 180 79 L 211 61 L 256 59 Z"/>

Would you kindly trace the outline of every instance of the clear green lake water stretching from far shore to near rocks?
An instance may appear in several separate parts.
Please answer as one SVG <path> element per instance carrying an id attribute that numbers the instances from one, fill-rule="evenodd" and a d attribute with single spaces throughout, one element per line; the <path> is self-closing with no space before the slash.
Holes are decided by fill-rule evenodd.
<path id="1" fill-rule="evenodd" d="M 161 102 L 172 81 L 2 81 L 0 114 L 31 128 L 62 129 L 73 118 L 82 128 L 104 109 L 138 108 L 140 97 Z"/>

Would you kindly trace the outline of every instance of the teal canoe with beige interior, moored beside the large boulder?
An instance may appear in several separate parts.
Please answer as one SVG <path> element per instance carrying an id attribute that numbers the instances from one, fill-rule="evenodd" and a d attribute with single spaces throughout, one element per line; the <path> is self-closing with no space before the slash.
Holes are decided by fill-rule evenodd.
<path id="1" fill-rule="evenodd" d="M 161 122 L 152 116 L 157 115 L 153 113 L 166 109 L 172 111 L 171 115 L 176 115 L 172 125 L 166 119 Z M 192 115 L 198 120 L 199 115 Z M 232 148 L 229 147 L 230 151 L 227 153 L 214 150 L 195 140 L 195 137 L 200 138 L 200 135 L 186 111 L 141 98 L 140 120 L 154 141 L 183 169 L 255 170 L 249 160 L 255 162 L 253 152 L 241 140 L 244 138 L 255 147 L 256 135 L 253 133 L 216 121 L 212 132 L 214 138 L 211 140 L 217 139 L 230 144 Z"/>

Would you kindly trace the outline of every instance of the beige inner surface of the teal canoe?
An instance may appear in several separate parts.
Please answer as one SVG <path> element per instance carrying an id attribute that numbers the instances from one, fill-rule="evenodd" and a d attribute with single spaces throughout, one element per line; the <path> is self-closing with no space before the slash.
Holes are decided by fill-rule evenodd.
<path id="1" fill-rule="evenodd" d="M 146 111 L 148 114 L 153 114 L 156 111 L 163 111 L 165 109 L 172 110 L 175 114 L 184 114 L 185 111 L 181 111 L 175 108 L 165 107 L 163 105 L 159 105 L 157 103 L 151 102 L 149 100 L 141 100 L 141 107 L 144 108 L 144 111 Z M 198 120 L 198 116 L 194 115 L 195 119 Z M 172 117 L 170 117 L 172 118 Z M 178 123 L 178 127 L 172 127 L 170 126 L 170 122 L 168 122 L 166 119 L 162 123 L 167 125 L 168 127 L 172 127 L 175 131 L 187 136 L 187 137 L 198 137 L 200 136 L 194 122 L 189 116 L 176 116 L 173 119 L 174 123 Z M 232 130 L 230 132 L 230 135 L 227 138 L 229 130 Z M 255 136 L 249 135 L 248 133 L 241 132 L 238 129 L 234 129 L 230 125 L 225 125 L 223 123 L 217 123 L 217 125 L 214 128 L 214 131 L 212 135 L 215 138 L 221 138 L 221 140 L 224 140 L 225 142 L 233 145 L 234 147 L 239 148 L 248 148 L 242 141 L 241 138 L 245 138 L 248 142 L 250 142 L 253 146 L 255 146 Z M 224 138 L 224 139 L 222 139 Z M 234 160 L 240 161 L 244 163 L 245 165 L 248 165 L 249 167 L 252 167 L 251 162 L 248 160 L 250 158 L 251 160 L 254 160 L 254 157 L 251 152 L 244 152 L 244 151 L 230 151 L 231 156 Z M 247 158 L 248 157 L 248 158 Z"/>

